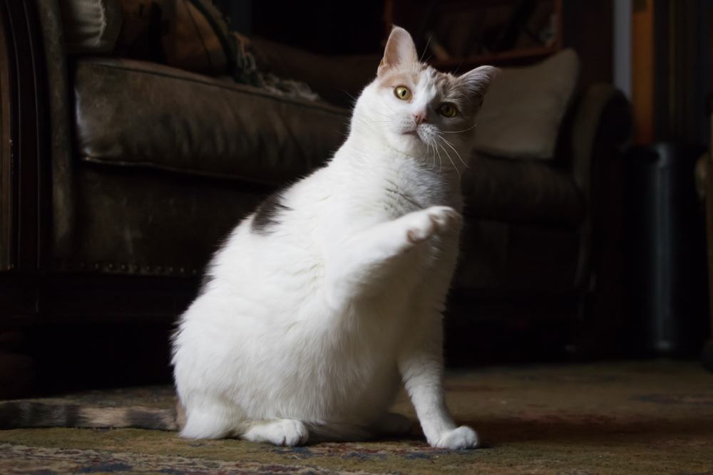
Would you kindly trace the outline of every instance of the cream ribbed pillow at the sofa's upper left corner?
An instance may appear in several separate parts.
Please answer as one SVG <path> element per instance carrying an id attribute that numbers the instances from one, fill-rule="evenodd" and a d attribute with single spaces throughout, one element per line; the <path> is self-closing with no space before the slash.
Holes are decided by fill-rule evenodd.
<path id="1" fill-rule="evenodd" d="M 60 0 L 69 53 L 111 53 L 121 28 L 116 0 Z"/>

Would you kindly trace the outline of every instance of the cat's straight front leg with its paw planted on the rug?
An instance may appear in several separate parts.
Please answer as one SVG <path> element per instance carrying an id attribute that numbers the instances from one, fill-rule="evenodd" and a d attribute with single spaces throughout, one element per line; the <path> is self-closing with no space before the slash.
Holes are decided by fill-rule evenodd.
<path id="1" fill-rule="evenodd" d="M 428 337 L 422 333 L 425 338 L 405 346 L 399 370 L 429 444 L 441 449 L 473 449 L 478 447 L 478 434 L 468 426 L 457 427 L 446 407 L 440 327 L 439 320 L 433 325 L 434 333 Z"/>

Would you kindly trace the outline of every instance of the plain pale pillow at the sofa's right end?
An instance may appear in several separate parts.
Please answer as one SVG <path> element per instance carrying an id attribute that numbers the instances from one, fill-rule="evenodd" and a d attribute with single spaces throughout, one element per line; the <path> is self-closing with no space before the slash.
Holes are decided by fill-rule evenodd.
<path id="1" fill-rule="evenodd" d="M 580 61 L 572 49 L 523 68 L 503 68 L 478 113 L 475 149 L 488 155 L 553 158 Z"/>

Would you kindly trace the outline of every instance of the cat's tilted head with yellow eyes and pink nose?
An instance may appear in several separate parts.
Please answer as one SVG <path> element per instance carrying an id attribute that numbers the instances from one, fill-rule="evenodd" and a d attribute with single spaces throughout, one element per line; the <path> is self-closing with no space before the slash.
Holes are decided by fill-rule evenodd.
<path id="1" fill-rule="evenodd" d="M 462 168 L 497 72 L 493 66 L 459 76 L 436 71 L 419 61 L 411 35 L 394 26 L 376 79 L 357 100 L 352 127 L 367 127 L 408 155 Z"/>

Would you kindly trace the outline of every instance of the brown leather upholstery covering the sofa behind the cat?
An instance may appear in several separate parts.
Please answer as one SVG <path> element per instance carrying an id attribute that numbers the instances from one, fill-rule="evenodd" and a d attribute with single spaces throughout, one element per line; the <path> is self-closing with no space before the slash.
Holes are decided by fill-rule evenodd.
<path id="1" fill-rule="evenodd" d="M 51 169 L 37 184 L 39 209 L 51 218 L 36 236 L 39 248 L 51 248 L 39 266 L 45 273 L 200 273 L 262 196 L 319 167 L 344 140 L 348 108 L 156 63 L 68 56 L 56 0 L 35 4 L 50 139 L 37 157 Z M 345 106 L 379 59 L 327 58 L 269 41 L 255 47 L 273 73 Z M 595 210 L 610 194 L 607 167 L 629 131 L 626 100 L 595 85 L 570 104 L 553 160 L 474 157 L 463 178 L 456 288 L 585 293 L 596 271 L 595 229 L 607 214 Z"/>

